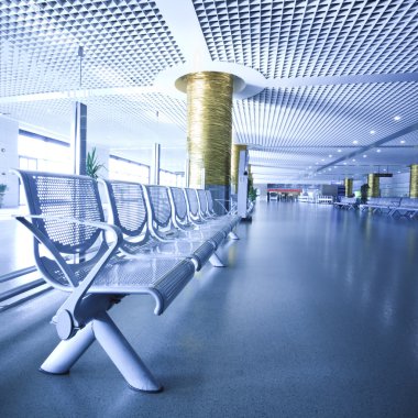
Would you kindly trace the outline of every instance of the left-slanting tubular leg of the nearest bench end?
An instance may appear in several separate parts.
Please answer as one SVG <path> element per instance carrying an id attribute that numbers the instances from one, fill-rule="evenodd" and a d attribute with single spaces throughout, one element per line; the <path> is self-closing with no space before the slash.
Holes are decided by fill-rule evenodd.
<path id="1" fill-rule="evenodd" d="M 95 334 L 89 323 L 70 340 L 62 341 L 41 365 L 40 371 L 51 374 L 67 374 L 94 341 Z"/>

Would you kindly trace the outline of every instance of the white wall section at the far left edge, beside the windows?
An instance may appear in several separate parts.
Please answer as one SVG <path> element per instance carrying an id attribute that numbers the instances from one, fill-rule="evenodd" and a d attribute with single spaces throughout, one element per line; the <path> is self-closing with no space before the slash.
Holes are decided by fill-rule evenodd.
<path id="1" fill-rule="evenodd" d="M 3 200 L 3 207 L 8 208 L 19 204 L 19 180 L 9 173 L 11 168 L 19 168 L 18 135 L 18 122 L 0 117 L 0 183 L 8 185 Z"/>

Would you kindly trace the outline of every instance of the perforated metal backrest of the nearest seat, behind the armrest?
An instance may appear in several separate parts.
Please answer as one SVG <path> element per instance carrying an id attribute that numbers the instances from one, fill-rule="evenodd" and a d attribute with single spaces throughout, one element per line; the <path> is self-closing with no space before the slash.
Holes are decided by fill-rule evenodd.
<path id="1" fill-rule="evenodd" d="M 65 290 L 77 286 L 88 274 L 91 263 L 109 248 L 101 229 L 68 221 L 105 221 L 97 182 L 87 176 L 15 172 L 22 180 L 30 213 L 48 217 L 32 218 L 33 228 L 43 235 L 42 242 L 52 254 L 52 257 L 45 254 L 38 240 L 34 239 L 38 270 L 57 288 Z M 100 244 L 99 251 L 86 257 L 84 254 L 97 244 Z M 73 257 L 73 265 L 68 266 L 65 256 L 77 254 L 82 256 Z"/>

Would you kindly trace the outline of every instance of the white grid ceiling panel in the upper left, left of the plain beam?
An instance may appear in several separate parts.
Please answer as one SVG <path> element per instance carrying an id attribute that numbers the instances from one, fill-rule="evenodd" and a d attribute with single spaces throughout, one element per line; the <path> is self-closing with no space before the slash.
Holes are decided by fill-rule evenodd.
<path id="1" fill-rule="evenodd" d="M 0 2 L 0 95 L 151 85 L 184 62 L 154 1 Z"/>

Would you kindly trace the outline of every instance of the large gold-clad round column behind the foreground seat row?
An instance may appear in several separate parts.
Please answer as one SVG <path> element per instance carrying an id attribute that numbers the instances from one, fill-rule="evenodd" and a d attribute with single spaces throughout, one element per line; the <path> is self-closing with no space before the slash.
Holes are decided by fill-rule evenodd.
<path id="1" fill-rule="evenodd" d="M 227 186 L 229 189 L 233 76 L 227 73 L 201 72 L 185 77 L 189 185 Z"/>

